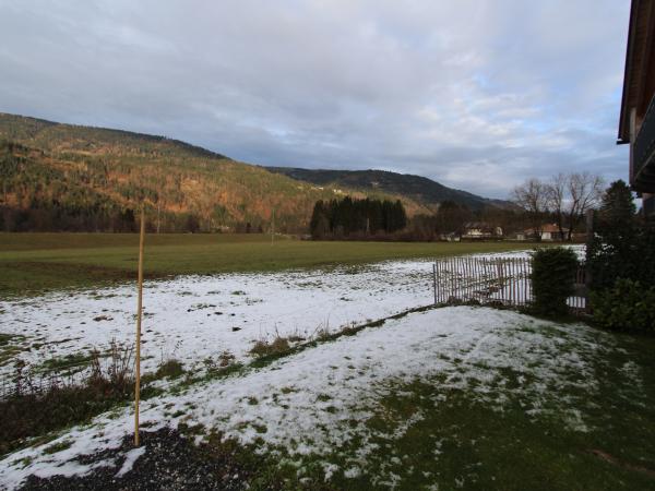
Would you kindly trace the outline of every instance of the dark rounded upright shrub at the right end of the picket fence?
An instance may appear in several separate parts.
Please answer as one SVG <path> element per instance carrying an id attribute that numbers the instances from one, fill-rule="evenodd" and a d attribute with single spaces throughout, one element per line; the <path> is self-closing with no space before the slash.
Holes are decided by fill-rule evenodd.
<path id="1" fill-rule="evenodd" d="M 577 258 L 567 248 L 538 249 L 533 253 L 533 308 L 545 315 L 568 312 L 567 298 L 573 295 Z"/>

